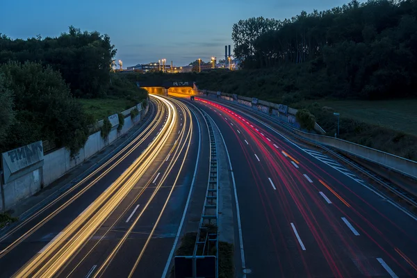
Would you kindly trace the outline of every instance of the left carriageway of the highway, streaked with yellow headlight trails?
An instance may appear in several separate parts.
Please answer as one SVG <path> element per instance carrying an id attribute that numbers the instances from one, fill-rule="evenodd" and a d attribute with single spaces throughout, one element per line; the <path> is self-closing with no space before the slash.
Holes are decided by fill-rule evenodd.
<path id="1" fill-rule="evenodd" d="M 151 103 L 129 145 L 0 238 L 1 277 L 161 277 L 202 138 L 179 101 Z"/>

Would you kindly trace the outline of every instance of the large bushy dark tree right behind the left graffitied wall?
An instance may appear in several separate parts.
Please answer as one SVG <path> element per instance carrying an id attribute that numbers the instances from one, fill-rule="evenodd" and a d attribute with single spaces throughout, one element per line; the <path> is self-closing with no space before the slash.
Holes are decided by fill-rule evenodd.
<path id="1" fill-rule="evenodd" d="M 15 109 L 3 151 L 37 140 L 67 147 L 72 154 L 83 147 L 93 119 L 71 96 L 59 72 L 38 63 L 9 62 L 0 66 L 0 74 L 10 81 L 5 88 L 13 92 Z"/>

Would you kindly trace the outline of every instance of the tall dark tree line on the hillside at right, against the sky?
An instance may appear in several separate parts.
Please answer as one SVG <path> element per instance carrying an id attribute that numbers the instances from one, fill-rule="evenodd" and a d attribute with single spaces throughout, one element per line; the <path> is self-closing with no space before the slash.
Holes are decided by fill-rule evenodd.
<path id="1" fill-rule="evenodd" d="M 310 96 L 417 96 L 415 0 L 353 0 L 291 19 L 250 18 L 234 24 L 232 39 L 245 69 L 297 67 L 288 77 L 301 77 Z"/>

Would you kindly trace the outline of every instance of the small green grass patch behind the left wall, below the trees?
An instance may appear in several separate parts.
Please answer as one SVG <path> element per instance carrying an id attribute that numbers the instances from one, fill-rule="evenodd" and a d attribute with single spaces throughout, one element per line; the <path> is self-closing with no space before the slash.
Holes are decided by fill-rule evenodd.
<path id="1" fill-rule="evenodd" d="M 135 104 L 128 99 L 77 99 L 85 108 L 85 112 L 92 114 L 96 120 L 120 113 Z"/>

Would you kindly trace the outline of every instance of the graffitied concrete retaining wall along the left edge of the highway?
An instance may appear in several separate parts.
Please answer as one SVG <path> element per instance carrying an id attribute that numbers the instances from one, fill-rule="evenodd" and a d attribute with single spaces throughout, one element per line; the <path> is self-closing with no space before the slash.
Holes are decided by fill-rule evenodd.
<path id="1" fill-rule="evenodd" d="M 142 105 L 138 105 L 137 107 L 142 108 Z M 131 109 L 129 109 L 129 112 L 130 110 Z M 122 130 L 119 132 L 117 131 L 118 124 L 113 126 L 106 140 L 101 138 L 101 131 L 92 133 L 79 154 L 76 154 L 74 158 L 71 158 L 70 151 L 65 147 L 44 155 L 44 164 L 42 167 L 27 172 L 14 181 L 3 184 L 4 204 L 0 195 L 0 211 L 8 210 L 22 199 L 34 195 L 42 188 L 42 186 L 49 186 L 49 184 L 62 177 L 66 172 L 97 154 L 101 149 L 110 145 L 117 140 L 117 138 L 128 132 L 135 124 L 140 122 L 140 120 L 145 117 L 148 110 L 149 106 L 145 109 L 141 109 L 140 113 L 134 119 L 131 119 L 130 115 L 125 117 Z"/>

